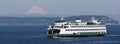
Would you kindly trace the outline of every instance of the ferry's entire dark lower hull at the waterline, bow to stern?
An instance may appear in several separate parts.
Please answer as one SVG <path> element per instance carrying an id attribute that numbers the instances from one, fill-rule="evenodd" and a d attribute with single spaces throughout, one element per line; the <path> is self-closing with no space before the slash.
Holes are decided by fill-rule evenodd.
<path id="1" fill-rule="evenodd" d="M 106 33 L 100 32 L 82 32 L 80 34 L 48 34 L 48 37 L 89 37 L 89 36 L 105 36 Z"/>

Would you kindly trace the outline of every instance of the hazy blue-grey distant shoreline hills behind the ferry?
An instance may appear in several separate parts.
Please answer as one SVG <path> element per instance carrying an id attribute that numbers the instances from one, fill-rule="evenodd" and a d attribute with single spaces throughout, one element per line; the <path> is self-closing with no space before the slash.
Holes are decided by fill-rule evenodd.
<path id="1" fill-rule="evenodd" d="M 119 21 L 104 15 L 78 15 L 65 17 L 65 21 L 74 21 L 77 17 L 85 22 L 89 21 L 91 17 L 99 20 L 103 24 L 119 24 Z M 49 25 L 54 23 L 60 17 L 0 17 L 0 25 Z"/>

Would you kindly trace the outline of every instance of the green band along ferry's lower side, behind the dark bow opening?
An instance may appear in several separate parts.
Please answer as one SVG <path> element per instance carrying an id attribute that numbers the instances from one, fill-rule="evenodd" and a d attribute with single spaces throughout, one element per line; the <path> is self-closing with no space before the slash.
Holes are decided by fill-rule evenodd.
<path id="1" fill-rule="evenodd" d="M 58 34 L 57 37 L 74 37 L 74 36 L 102 36 L 105 32 L 82 32 L 80 34 Z"/>

